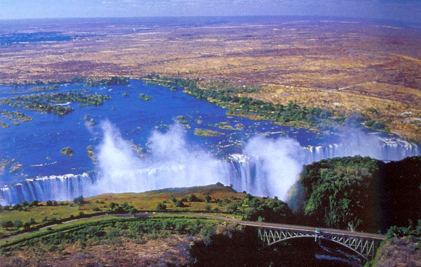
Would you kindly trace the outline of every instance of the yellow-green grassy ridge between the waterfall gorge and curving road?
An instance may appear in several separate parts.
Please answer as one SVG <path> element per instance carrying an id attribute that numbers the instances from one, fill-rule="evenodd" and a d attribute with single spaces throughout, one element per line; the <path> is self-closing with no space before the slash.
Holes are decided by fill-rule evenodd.
<path id="1" fill-rule="evenodd" d="M 59 202 L 64 206 L 45 206 L 46 203 L 41 203 L 43 206 L 33 207 L 30 211 L 3 211 L 0 213 L 0 222 L 5 220 L 21 220 L 23 223 L 29 222 L 31 218 L 35 219 L 36 224 L 32 227 L 36 227 L 42 220 L 47 216 L 48 219 L 56 218 L 70 219 L 70 216 L 77 216 L 80 213 L 84 214 L 100 214 L 102 212 L 109 211 L 109 204 L 111 202 L 122 204 L 127 202 L 130 206 L 134 206 L 138 211 L 155 211 L 157 204 L 160 202 L 167 202 L 167 210 L 170 211 L 205 211 L 205 206 L 211 206 L 211 209 L 219 208 L 221 211 L 225 211 L 224 207 L 219 207 L 217 203 L 211 202 L 184 202 L 186 207 L 177 208 L 175 204 L 170 200 L 171 195 L 174 195 L 177 199 L 195 195 L 200 199 L 205 199 L 206 194 L 209 194 L 212 199 L 224 199 L 235 196 L 237 198 L 244 198 L 245 194 L 237 193 L 231 187 L 226 187 L 221 184 L 190 187 L 190 188 L 175 188 L 175 189 L 163 189 L 157 191 L 149 191 L 144 193 L 122 193 L 122 194 L 103 194 L 95 197 L 85 199 L 85 204 L 80 208 L 77 205 L 73 205 L 73 202 Z M 94 211 L 98 208 L 99 211 Z M 22 229 L 22 228 L 21 228 Z M 2 228 L 0 227 L 0 234 L 10 235 L 16 231 L 16 228 Z"/>

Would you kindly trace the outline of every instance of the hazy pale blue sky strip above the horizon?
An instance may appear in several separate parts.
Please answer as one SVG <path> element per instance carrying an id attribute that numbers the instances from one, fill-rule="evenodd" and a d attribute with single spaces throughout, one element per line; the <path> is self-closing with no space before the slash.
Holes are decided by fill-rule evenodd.
<path id="1" fill-rule="evenodd" d="M 0 0 L 0 19 L 319 15 L 421 23 L 421 0 Z"/>

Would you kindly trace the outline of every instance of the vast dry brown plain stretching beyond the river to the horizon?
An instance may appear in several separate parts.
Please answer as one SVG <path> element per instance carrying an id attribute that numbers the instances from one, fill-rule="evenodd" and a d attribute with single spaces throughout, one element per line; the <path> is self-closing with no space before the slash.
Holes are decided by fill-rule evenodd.
<path id="1" fill-rule="evenodd" d="M 59 26 L 72 41 L 0 47 L 0 82 L 148 73 L 257 86 L 249 96 L 357 112 L 421 142 L 421 28 L 270 19 L 198 26 Z M 96 26 L 95 26 L 96 25 Z M 375 111 L 374 111 L 375 110 Z"/>

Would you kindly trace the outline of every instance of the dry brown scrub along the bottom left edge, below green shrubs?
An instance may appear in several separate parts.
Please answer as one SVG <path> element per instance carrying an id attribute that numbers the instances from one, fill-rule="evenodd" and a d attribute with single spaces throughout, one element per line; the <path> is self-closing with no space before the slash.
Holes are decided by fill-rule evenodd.
<path id="1" fill-rule="evenodd" d="M 189 264 L 190 242 L 185 237 L 147 239 L 133 242 L 122 238 L 118 244 L 100 244 L 88 248 L 77 244 L 63 244 L 61 251 L 42 255 L 29 249 L 0 258 L 4 267 L 16 266 L 185 266 Z M 48 251 L 47 246 L 40 245 Z M 53 265 L 54 264 L 54 265 Z"/>

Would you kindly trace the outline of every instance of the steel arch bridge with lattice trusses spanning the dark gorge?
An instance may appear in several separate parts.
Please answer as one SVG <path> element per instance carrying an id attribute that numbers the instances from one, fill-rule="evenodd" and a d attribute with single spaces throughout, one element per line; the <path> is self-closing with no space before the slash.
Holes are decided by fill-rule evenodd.
<path id="1" fill-rule="evenodd" d="M 379 240 L 381 240 L 380 238 L 362 237 L 358 233 L 351 235 L 328 233 L 318 229 L 295 230 L 281 228 L 258 228 L 258 237 L 262 241 L 263 246 L 270 246 L 278 242 L 301 237 L 314 238 L 314 242 L 325 239 L 351 249 L 367 261 L 374 258 L 375 249 L 377 249 Z"/>

